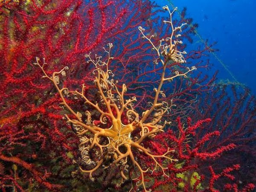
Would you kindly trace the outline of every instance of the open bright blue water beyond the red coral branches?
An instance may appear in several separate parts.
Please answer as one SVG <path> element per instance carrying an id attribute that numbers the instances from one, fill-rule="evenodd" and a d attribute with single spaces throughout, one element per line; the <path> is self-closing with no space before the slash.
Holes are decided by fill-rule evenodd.
<path id="1" fill-rule="evenodd" d="M 198 23 L 198 34 L 209 43 L 217 41 L 210 54 L 209 75 L 219 70 L 218 81 L 239 82 L 256 93 L 256 0 L 158 0 L 160 6 L 173 3 L 186 17 Z M 170 6 L 171 8 L 171 6 Z M 189 50 L 186 50 L 187 52 Z M 225 67 L 227 67 L 227 70 Z M 242 87 L 241 87 L 242 88 Z"/>

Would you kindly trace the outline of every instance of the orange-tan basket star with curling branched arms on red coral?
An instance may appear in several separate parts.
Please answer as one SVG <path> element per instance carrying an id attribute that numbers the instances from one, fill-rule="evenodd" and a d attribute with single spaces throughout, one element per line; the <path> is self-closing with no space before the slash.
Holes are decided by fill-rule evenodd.
<path id="1" fill-rule="evenodd" d="M 111 164 L 115 164 L 119 167 L 121 180 L 128 179 L 128 169 L 132 166 L 137 170 L 134 175 L 137 175 L 137 186 L 142 186 L 145 192 L 151 191 L 147 189 L 144 182 L 145 173 L 148 171 L 154 172 L 160 169 L 163 175 L 166 175 L 165 169 L 166 165 L 159 163 L 159 159 L 164 159 L 169 163 L 177 161 L 177 159 L 172 158 L 173 150 L 169 148 L 164 154 L 152 154 L 150 148 L 145 148 L 143 141 L 146 138 L 152 138 L 157 134 L 163 132 L 163 128 L 170 122 L 164 121 L 163 115 L 169 113 L 174 104 L 171 102 L 159 102 L 159 96 L 165 97 L 165 93 L 161 90 L 164 81 L 172 81 L 178 76 L 186 77 L 186 74 L 195 70 L 195 67 L 191 69 L 187 67 L 185 73 L 175 72 L 174 75 L 166 75 L 166 67 L 171 62 L 177 62 L 180 64 L 186 63 L 183 54 L 185 51 L 180 52 L 177 49 L 178 44 L 182 44 L 182 41 L 177 41 L 181 36 L 181 28 L 186 23 L 181 26 L 174 27 L 172 24 L 172 15 L 177 10 L 175 8 L 170 12 L 168 6 L 163 7 L 164 10 L 169 12 L 170 20 L 163 21 L 166 24 L 171 25 L 171 34 L 165 39 L 159 41 L 159 45 L 154 45 L 151 41 L 154 35 L 148 37 L 144 34 L 145 29 L 139 26 L 139 30 L 142 37 L 151 44 L 152 49 L 157 53 L 157 59 L 154 64 L 159 61 L 162 64 L 163 72 L 161 75 L 160 83 L 157 88 L 154 88 L 154 100 L 149 102 L 149 108 L 143 113 L 139 114 L 133 108 L 134 102 L 136 102 L 136 97 L 126 98 L 125 93 L 127 88 L 125 84 L 122 84 L 122 89 L 117 87 L 118 81 L 114 80 L 113 73 L 109 69 L 109 64 L 113 60 L 111 57 L 111 48 L 113 44 L 108 44 L 108 48 L 103 48 L 107 53 L 107 58 L 102 59 L 102 56 L 94 55 L 91 53 L 85 55 L 88 64 L 93 64 L 95 70 L 93 70 L 93 75 L 95 76 L 94 83 L 96 90 L 98 91 L 100 101 L 95 102 L 84 94 L 85 85 L 82 84 L 81 90 L 70 91 L 67 87 L 61 87 L 60 76 L 65 76 L 68 67 L 64 67 L 59 72 L 54 72 L 52 76 L 48 76 L 44 70 L 44 65 L 47 64 L 45 60 L 40 63 L 40 59 L 36 58 L 35 65 L 39 66 L 44 73 L 44 78 L 49 79 L 55 85 L 58 93 L 61 97 L 61 106 L 66 108 L 75 117 L 71 119 L 69 114 L 65 114 L 64 118 L 67 120 L 68 125 L 72 125 L 73 129 L 76 131 L 77 136 L 80 139 L 79 151 L 81 158 L 79 160 L 74 160 L 74 163 L 79 164 L 79 169 L 81 172 L 89 173 L 90 179 L 94 180 L 93 172 L 97 169 L 110 169 Z M 175 38 L 175 41 L 173 40 Z M 164 42 L 166 42 L 164 44 Z M 75 111 L 67 102 L 67 96 L 73 96 L 74 99 L 84 100 L 85 105 L 90 105 L 95 111 L 98 111 L 99 119 L 93 119 L 92 111 L 79 112 Z M 123 123 L 121 118 L 123 115 L 128 119 L 128 124 Z M 83 120 L 85 119 L 85 120 Z M 97 120 L 97 125 L 94 123 Z M 110 128 L 104 128 L 104 125 L 111 121 Z M 135 132 L 136 131 L 136 132 Z M 132 133 L 139 133 L 133 135 Z M 102 138 L 105 138 L 102 143 Z M 92 157 L 90 151 L 93 150 L 94 156 Z M 140 160 L 134 157 L 134 151 L 140 151 L 148 156 L 153 162 L 153 170 L 150 167 L 145 168 L 144 165 L 140 164 Z M 128 159 L 130 159 L 128 161 Z M 131 163 L 128 163 L 131 162 Z"/>

